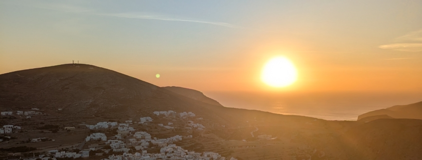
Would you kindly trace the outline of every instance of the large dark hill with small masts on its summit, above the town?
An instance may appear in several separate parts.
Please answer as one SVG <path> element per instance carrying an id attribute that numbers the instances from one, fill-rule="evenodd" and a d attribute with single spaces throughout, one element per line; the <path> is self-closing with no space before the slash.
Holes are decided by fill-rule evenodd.
<path id="1" fill-rule="evenodd" d="M 31 108 L 39 108 L 43 113 L 67 119 L 93 116 L 139 117 L 153 115 L 154 111 L 190 111 L 228 126 L 247 125 L 246 117 L 277 115 L 204 103 L 88 64 L 62 64 L 1 74 L 0 110 Z M 307 119 L 303 116 L 287 117 Z"/>

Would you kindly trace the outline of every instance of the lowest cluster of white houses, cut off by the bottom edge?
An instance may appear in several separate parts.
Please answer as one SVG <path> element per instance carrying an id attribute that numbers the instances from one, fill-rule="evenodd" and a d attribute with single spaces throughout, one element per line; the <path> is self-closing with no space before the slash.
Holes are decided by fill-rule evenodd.
<path id="1" fill-rule="evenodd" d="M 203 152 L 196 153 L 194 151 L 184 150 L 174 144 L 162 147 L 158 154 L 148 154 L 146 151 L 135 154 L 123 153 L 123 155 L 111 155 L 108 159 L 103 160 L 226 160 L 218 153 Z M 236 160 L 234 158 L 230 160 Z"/>

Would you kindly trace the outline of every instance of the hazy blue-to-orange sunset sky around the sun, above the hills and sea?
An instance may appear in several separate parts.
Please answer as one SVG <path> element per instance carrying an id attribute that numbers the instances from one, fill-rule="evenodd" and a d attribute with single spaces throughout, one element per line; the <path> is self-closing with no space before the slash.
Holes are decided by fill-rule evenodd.
<path id="1" fill-rule="evenodd" d="M 277 55 L 299 72 L 279 91 L 421 91 L 422 1 L 0 1 L 0 74 L 74 59 L 158 86 L 266 91 Z"/>

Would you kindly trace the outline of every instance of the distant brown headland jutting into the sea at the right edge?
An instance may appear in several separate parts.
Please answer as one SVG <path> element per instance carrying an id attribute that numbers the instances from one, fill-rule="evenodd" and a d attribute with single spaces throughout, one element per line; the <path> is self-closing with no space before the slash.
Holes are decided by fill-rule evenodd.
<path id="1" fill-rule="evenodd" d="M 358 120 L 380 115 L 387 115 L 392 118 L 422 119 L 422 102 L 409 105 L 397 105 L 386 109 L 371 111 L 360 115 Z"/>

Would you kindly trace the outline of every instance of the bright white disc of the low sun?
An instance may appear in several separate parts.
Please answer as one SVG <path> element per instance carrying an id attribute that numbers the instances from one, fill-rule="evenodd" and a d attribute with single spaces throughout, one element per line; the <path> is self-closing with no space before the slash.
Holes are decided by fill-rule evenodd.
<path id="1" fill-rule="evenodd" d="M 265 64 L 261 80 L 272 87 L 286 87 L 297 80 L 297 71 L 289 59 L 275 57 Z"/>

